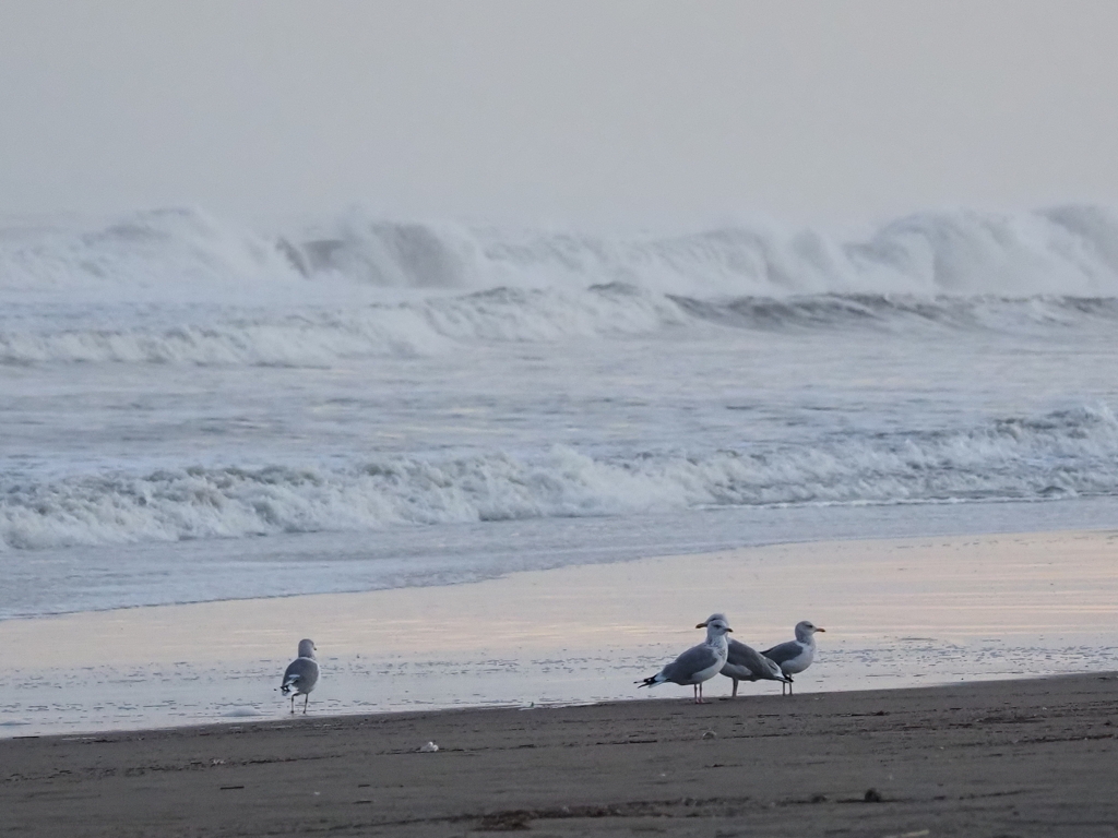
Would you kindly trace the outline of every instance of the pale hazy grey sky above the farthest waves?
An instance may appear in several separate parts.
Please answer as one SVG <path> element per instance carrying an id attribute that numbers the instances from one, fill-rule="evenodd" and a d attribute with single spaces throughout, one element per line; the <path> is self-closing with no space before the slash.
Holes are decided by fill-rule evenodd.
<path id="1" fill-rule="evenodd" d="M 1118 204 L 1112 0 L 0 0 L 0 211 Z"/>

